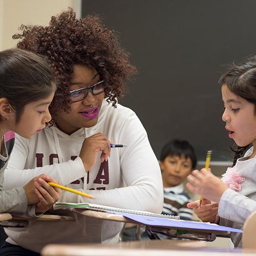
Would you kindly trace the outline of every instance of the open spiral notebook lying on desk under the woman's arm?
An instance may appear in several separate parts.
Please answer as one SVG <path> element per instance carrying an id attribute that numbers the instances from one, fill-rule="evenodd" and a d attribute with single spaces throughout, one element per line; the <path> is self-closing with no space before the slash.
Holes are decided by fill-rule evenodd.
<path id="1" fill-rule="evenodd" d="M 105 205 L 99 205 L 99 204 L 90 204 L 90 203 L 55 203 L 54 209 L 59 208 L 80 208 L 80 209 L 88 209 L 88 210 L 98 210 L 98 211 L 110 211 L 110 212 L 116 212 L 117 214 L 121 213 L 127 213 L 127 214 L 134 214 L 134 215 L 142 215 L 142 216 L 151 216 L 151 217 L 159 217 L 159 218 L 165 218 L 165 219 L 174 219 L 179 220 L 180 216 L 174 216 L 174 215 L 166 215 L 166 214 L 154 214 L 150 211 L 142 211 L 142 210 L 130 210 L 130 209 L 122 209 L 122 208 L 116 208 L 111 206 L 105 206 Z"/>

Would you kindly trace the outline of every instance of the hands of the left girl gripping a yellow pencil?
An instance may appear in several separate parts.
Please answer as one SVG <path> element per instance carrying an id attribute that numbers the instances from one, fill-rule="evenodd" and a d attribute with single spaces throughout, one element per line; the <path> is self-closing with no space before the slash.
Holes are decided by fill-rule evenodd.
<path id="1" fill-rule="evenodd" d="M 38 181 L 34 183 L 35 193 L 39 199 L 39 202 L 36 203 L 35 212 L 45 212 L 49 210 L 53 204 L 60 199 L 61 189 L 49 185 L 49 181 L 59 184 L 58 181 L 55 181 L 50 177 L 46 177 L 46 180 L 39 178 Z"/>

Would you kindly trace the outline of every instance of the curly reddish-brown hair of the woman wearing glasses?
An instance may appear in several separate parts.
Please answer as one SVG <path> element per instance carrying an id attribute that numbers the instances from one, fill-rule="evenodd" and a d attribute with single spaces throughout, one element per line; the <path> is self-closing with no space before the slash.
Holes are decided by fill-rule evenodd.
<path id="1" fill-rule="evenodd" d="M 91 65 L 105 81 L 105 98 L 116 106 L 116 97 L 124 96 L 125 81 L 137 73 L 129 62 L 130 54 L 120 47 L 114 30 L 106 28 L 97 15 L 77 19 L 69 8 L 52 16 L 48 27 L 25 26 L 13 35 L 21 38 L 17 47 L 48 57 L 56 76 L 57 91 L 50 106 L 51 114 L 59 109 L 70 111 L 70 80 L 74 65 Z"/>

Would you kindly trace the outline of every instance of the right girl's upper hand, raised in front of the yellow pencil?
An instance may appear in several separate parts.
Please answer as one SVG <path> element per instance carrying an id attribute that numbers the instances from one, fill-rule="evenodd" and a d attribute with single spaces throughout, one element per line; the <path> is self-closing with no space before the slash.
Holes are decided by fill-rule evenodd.
<path id="1" fill-rule="evenodd" d="M 219 202 L 222 194 L 227 189 L 227 186 L 215 175 L 210 169 L 193 170 L 187 176 L 187 188 L 196 194 L 201 195 L 211 201 Z"/>

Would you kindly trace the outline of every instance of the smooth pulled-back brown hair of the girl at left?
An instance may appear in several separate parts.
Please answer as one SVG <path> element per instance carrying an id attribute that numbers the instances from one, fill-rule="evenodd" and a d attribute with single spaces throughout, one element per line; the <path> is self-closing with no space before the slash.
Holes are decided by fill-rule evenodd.
<path id="1" fill-rule="evenodd" d="M 16 123 L 26 104 L 46 98 L 54 90 L 54 77 L 45 59 L 20 49 L 0 52 L 0 98 L 8 100 Z"/>

